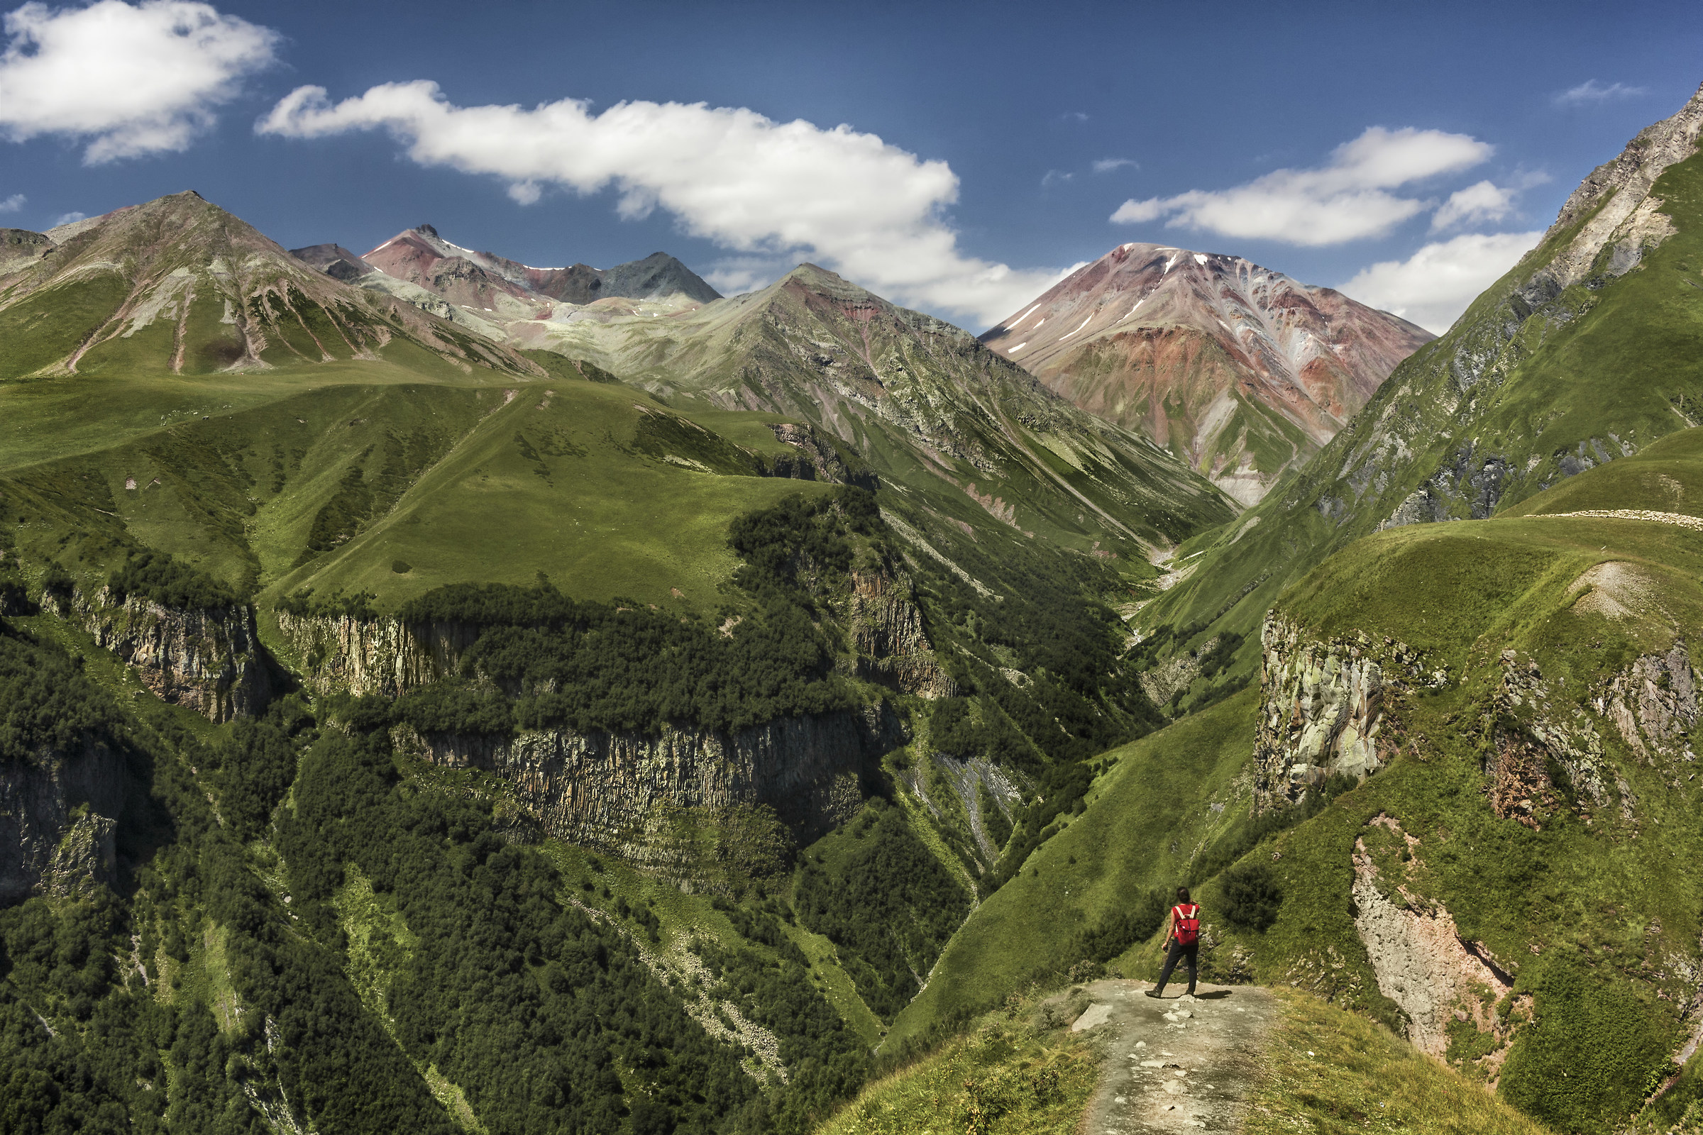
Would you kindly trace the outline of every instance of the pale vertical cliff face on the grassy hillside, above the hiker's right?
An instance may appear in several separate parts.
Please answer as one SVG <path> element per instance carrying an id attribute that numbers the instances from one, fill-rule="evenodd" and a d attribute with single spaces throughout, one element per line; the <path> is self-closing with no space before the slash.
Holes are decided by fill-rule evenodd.
<path id="1" fill-rule="evenodd" d="M 1253 740 L 1253 807 L 1282 808 L 1335 774 L 1364 778 L 1385 756 L 1386 703 L 1415 686 L 1448 682 L 1419 653 L 1366 635 L 1318 642 L 1277 611 L 1260 630 L 1260 716 Z"/>

